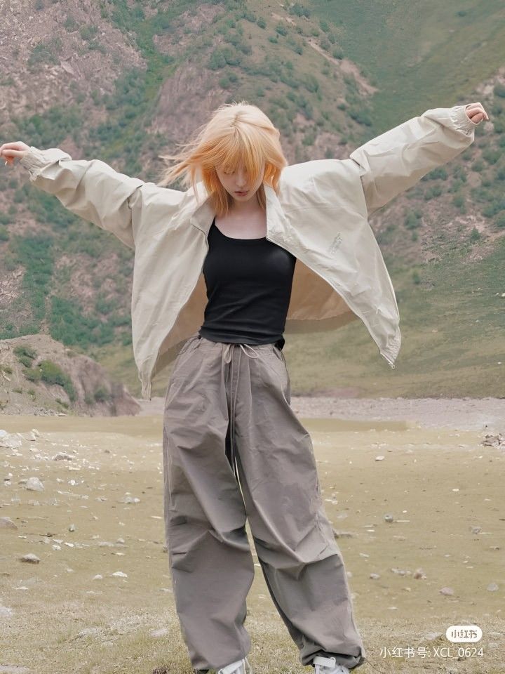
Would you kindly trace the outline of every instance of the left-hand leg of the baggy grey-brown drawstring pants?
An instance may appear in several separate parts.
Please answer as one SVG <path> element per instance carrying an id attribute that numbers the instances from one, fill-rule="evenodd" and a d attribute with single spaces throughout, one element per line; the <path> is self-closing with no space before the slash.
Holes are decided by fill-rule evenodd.
<path id="1" fill-rule="evenodd" d="M 222 345 L 182 348 L 163 415 L 164 521 L 182 637 L 194 669 L 250 651 L 244 627 L 254 562 L 245 507 L 227 453 L 229 388 Z"/>

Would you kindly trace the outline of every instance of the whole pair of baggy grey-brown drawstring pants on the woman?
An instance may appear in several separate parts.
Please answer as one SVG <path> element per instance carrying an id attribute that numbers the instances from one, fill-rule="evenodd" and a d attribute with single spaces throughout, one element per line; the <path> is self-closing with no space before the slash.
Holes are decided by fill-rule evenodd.
<path id="1" fill-rule="evenodd" d="M 237 477 L 238 476 L 238 477 Z M 175 361 L 163 418 L 166 544 L 181 633 L 194 669 L 250 651 L 244 627 L 253 534 L 269 593 L 299 661 L 365 661 L 342 554 L 323 510 L 311 437 L 290 407 L 273 343 L 194 333 Z"/>

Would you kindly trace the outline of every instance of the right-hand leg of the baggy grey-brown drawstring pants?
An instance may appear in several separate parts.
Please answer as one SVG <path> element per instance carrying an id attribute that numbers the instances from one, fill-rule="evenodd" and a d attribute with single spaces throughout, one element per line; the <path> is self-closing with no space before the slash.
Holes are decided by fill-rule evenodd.
<path id="1" fill-rule="evenodd" d="M 272 600 L 302 665 L 365 661 L 342 553 L 325 515 L 311 437 L 290 407 L 285 359 L 273 345 L 241 356 L 236 460 L 245 509 Z"/>

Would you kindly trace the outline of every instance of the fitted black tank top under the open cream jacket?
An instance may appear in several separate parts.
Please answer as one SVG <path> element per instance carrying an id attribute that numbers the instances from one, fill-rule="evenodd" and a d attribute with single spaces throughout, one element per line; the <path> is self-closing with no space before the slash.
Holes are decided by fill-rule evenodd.
<path id="1" fill-rule="evenodd" d="M 198 333 L 214 342 L 274 342 L 282 349 L 297 258 L 267 237 L 227 237 L 215 220 L 208 246 L 203 263 L 208 302 Z"/>

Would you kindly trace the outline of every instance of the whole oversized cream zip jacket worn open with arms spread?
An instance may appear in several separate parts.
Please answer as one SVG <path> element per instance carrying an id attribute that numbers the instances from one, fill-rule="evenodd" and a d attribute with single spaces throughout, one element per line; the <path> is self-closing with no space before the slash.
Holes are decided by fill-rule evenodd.
<path id="1" fill-rule="evenodd" d="M 427 110 L 369 140 L 349 159 L 286 166 L 278 194 L 265 184 L 267 239 L 296 258 L 285 333 L 334 330 L 361 319 L 394 368 L 398 305 L 368 217 L 471 145 L 465 105 Z M 135 250 L 133 353 L 142 398 L 203 323 L 203 261 L 213 209 L 203 182 L 188 190 L 145 183 L 99 159 L 30 147 L 29 180 L 69 211 Z"/>

